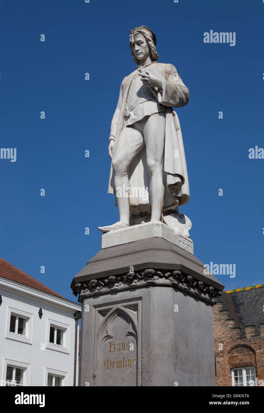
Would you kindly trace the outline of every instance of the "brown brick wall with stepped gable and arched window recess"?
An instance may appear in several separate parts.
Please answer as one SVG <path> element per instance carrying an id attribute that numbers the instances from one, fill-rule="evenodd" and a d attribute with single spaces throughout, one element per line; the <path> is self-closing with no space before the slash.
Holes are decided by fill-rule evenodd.
<path id="1" fill-rule="evenodd" d="M 245 326 L 245 337 L 229 317 L 229 311 L 218 302 L 214 313 L 214 354 L 216 385 L 232 386 L 231 368 L 255 366 L 258 385 L 264 385 L 264 324 L 260 335 L 255 335 L 253 325 Z"/>

